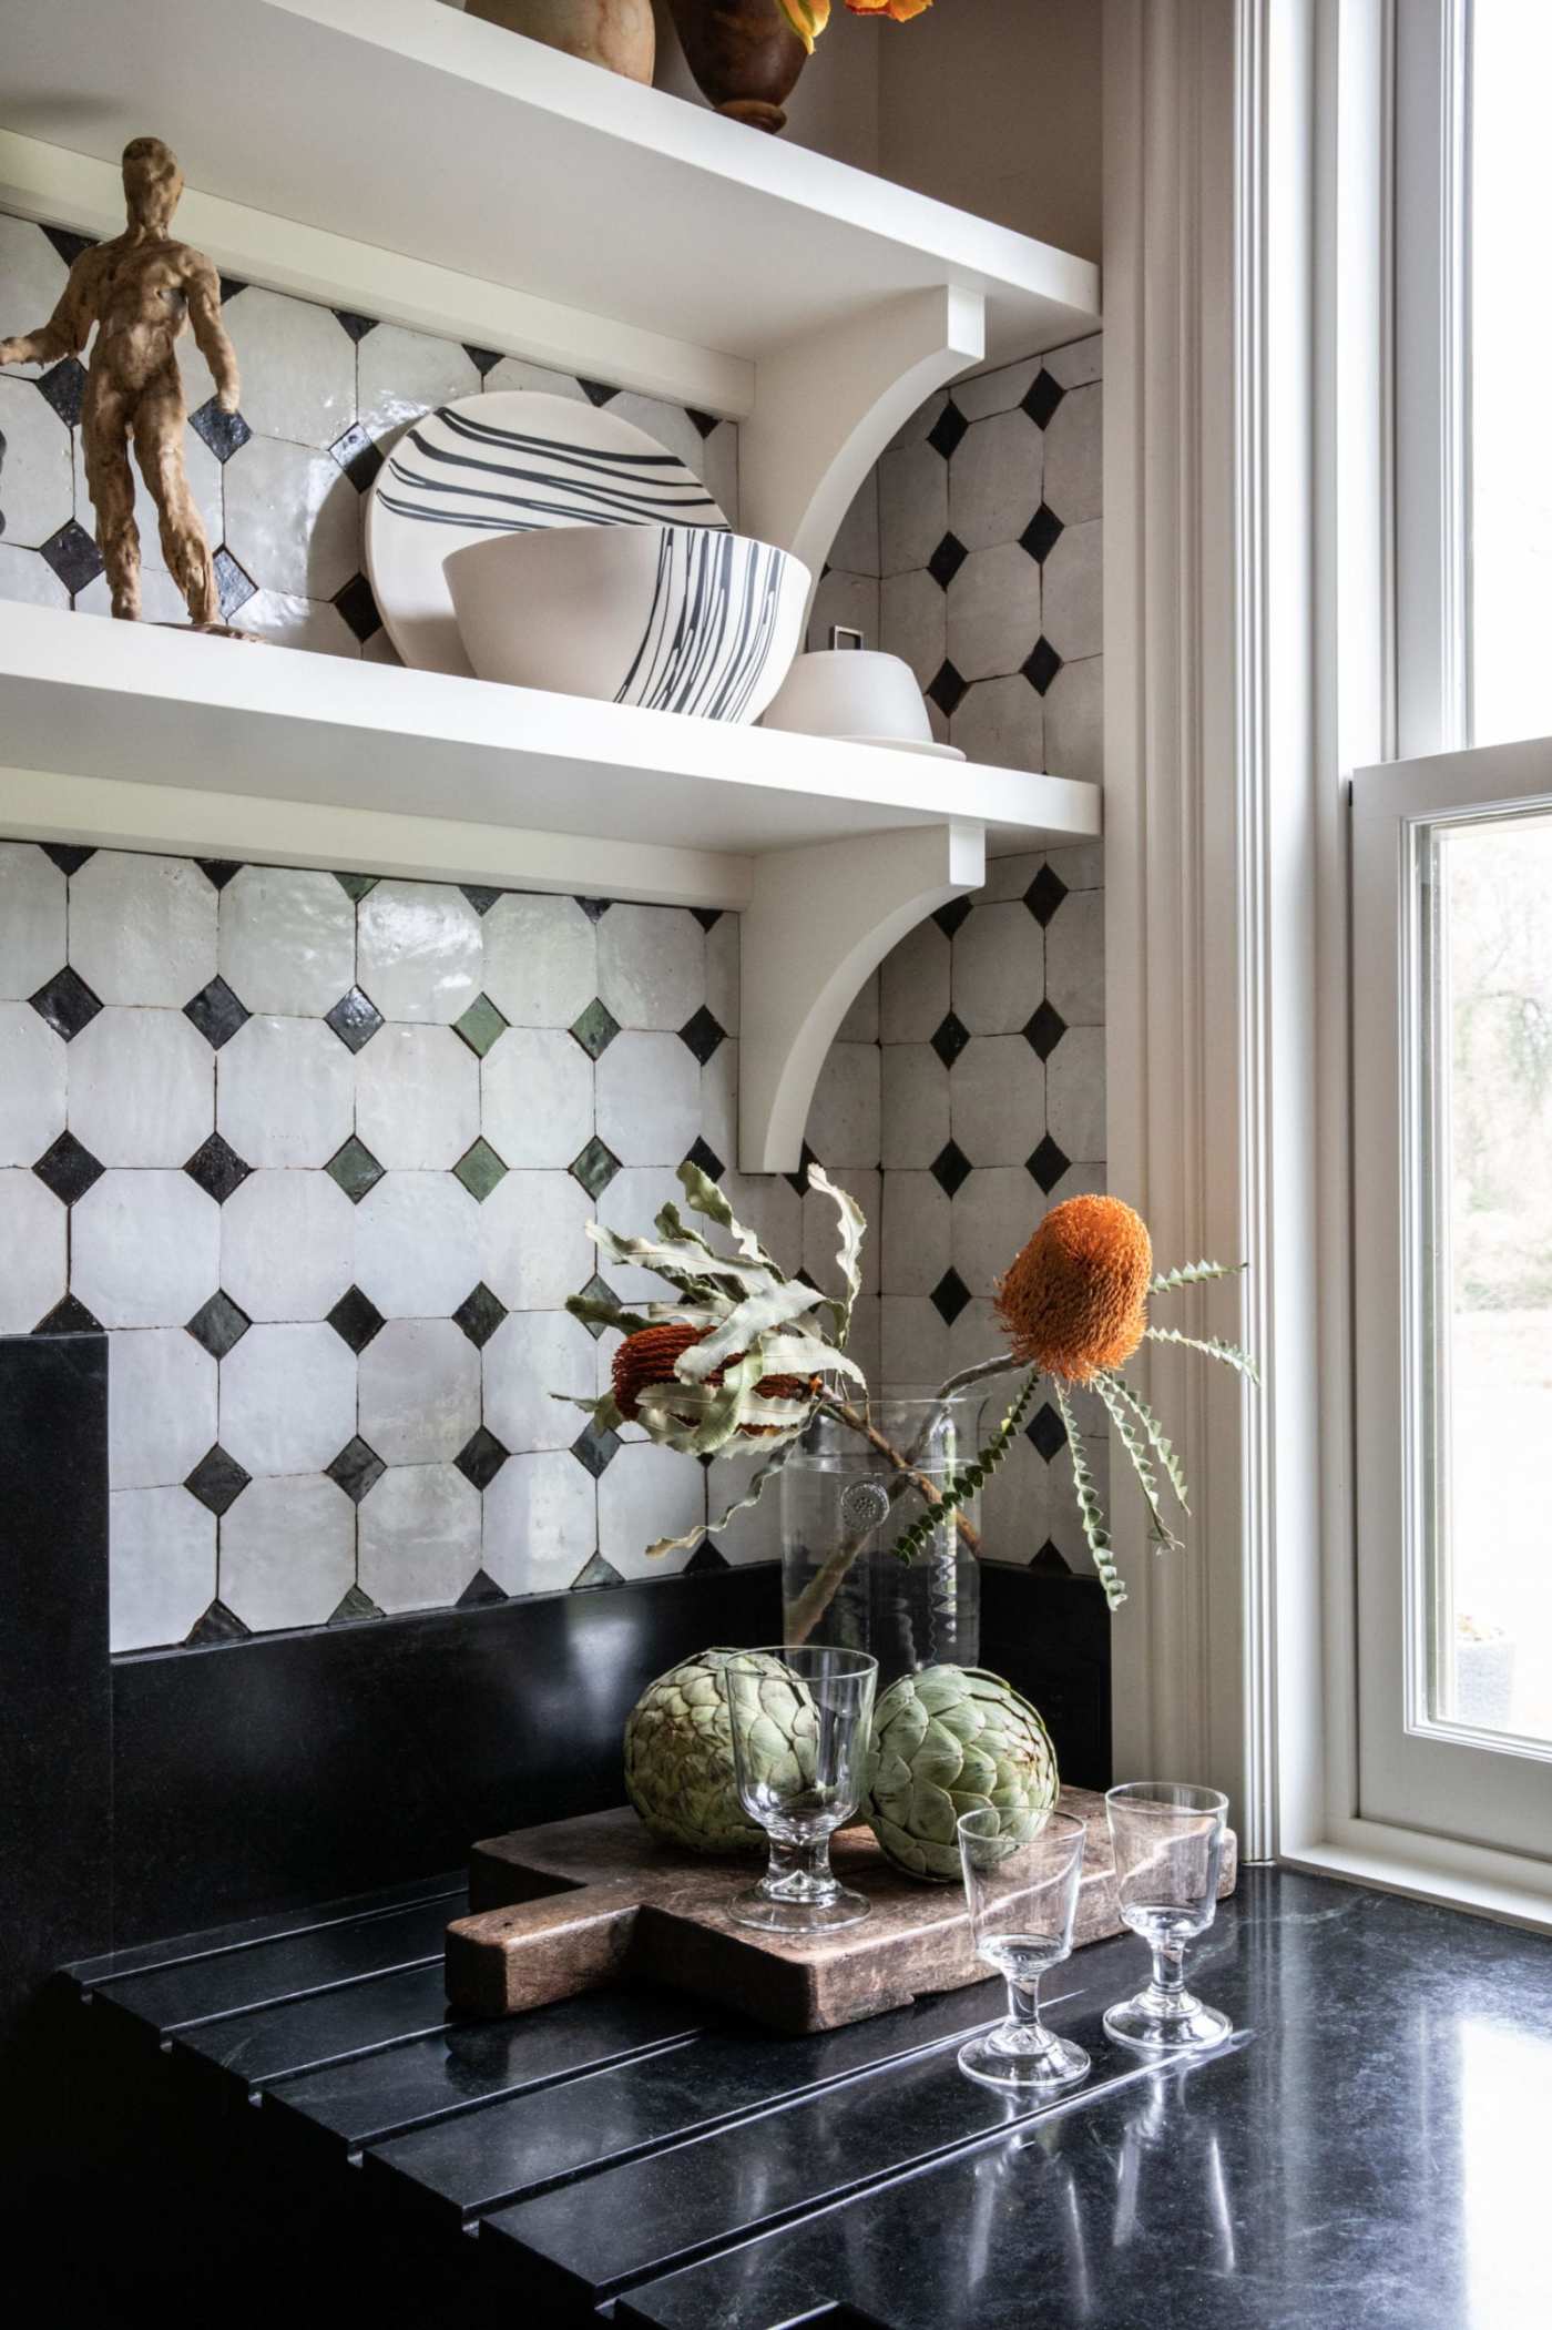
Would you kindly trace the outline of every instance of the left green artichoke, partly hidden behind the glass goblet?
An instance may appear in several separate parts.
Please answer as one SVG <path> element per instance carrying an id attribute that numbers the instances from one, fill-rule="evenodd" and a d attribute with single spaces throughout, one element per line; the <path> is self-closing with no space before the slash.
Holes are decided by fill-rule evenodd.
<path id="1" fill-rule="evenodd" d="M 764 1831 L 739 1803 L 732 1724 L 727 1720 L 729 1659 L 769 1675 L 767 1717 L 771 1752 L 790 1748 L 792 1722 L 806 1703 L 792 1692 L 781 1659 L 748 1650 L 701 1650 L 650 1682 L 625 1720 L 625 1789 L 659 1845 L 690 1852 L 750 1852 Z M 809 1720 L 811 1720 L 809 1708 Z"/>

